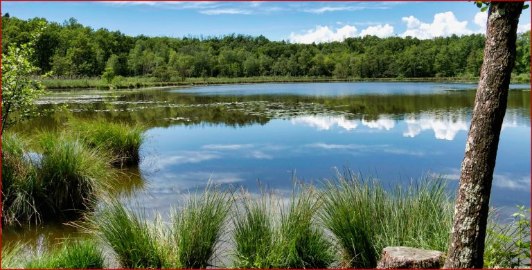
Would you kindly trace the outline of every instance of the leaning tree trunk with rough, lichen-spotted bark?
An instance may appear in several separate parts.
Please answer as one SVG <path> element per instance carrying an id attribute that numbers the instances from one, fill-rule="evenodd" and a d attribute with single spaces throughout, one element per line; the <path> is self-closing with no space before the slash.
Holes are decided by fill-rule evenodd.
<path id="1" fill-rule="evenodd" d="M 446 269 L 484 265 L 491 182 L 522 8 L 523 2 L 490 3 L 484 62 L 465 143 Z"/>

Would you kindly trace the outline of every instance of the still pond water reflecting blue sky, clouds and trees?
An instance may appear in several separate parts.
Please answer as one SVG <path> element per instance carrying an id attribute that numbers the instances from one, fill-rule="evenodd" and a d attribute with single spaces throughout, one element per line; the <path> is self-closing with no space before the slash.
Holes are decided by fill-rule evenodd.
<path id="1" fill-rule="evenodd" d="M 120 194 L 132 207 L 168 213 L 209 179 L 287 194 L 292 175 L 320 183 L 348 166 L 364 177 L 405 183 L 445 174 L 456 189 L 475 84 L 233 84 L 188 89 L 55 91 L 39 106 L 68 109 L 15 127 L 35 134 L 69 119 L 149 127 L 139 168 Z M 531 95 L 512 85 L 497 154 L 491 204 L 511 213 L 531 204 Z M 57 224 L 3 228 L 2 242 L 75 235 Z"/>

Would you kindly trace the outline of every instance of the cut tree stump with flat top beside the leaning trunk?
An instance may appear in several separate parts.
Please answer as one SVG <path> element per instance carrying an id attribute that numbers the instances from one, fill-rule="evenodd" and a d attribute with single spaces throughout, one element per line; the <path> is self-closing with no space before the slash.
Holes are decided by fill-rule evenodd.
<path id="1" fill-rule="evenodd" d="M 438 269 L 443 267 L 444 260 L 444 253 L 441 251 L 387 246 L 382 249 L 377 269 Z"/>

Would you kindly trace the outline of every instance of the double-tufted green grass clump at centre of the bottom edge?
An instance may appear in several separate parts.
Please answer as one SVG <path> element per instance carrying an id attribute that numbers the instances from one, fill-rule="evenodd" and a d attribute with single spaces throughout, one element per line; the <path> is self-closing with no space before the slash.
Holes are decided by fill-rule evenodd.
<path id="1" fill-rule="evenodd" d="M 313 187 L 296 184 L 286 206 L 262 190 L 258 198 L 244 190 L 241 194 L 233 219 L 235 267 L 321 269 L 330 265 L 333 244 L 315 220 L 320 201 Z"/>

